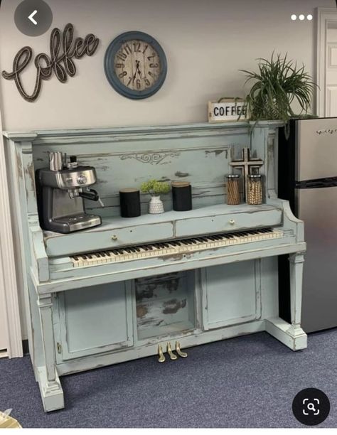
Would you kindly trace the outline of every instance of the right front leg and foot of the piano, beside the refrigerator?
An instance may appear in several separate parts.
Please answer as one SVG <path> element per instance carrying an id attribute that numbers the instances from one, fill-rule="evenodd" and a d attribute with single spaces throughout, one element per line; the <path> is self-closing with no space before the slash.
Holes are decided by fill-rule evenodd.
<path id="1" fill-rule="evenodd" d="M 289 255 L 291 324 L 279 317 L 266 320 L 266 331 L 291 350 L 307 347 L 307 336 L 301 328 L 303 263 L 304 252 Z"/>

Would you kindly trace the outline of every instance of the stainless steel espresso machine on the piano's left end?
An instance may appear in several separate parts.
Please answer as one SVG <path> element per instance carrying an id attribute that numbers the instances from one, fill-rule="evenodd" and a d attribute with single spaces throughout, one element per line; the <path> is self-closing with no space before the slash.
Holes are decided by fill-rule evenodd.
<path id="1" fill-rule="evenodd" d="M 97 181 L 95 168 L 80 166 L 76 156 L 60 151 L 49 153 L 49 168 L 36 171 L 38 215 L 43 230 L 74 232 L 101 225 L 100 216 L 85 213 L 84 199 L 99 201 L 96 190 L 90 189 Z"/>

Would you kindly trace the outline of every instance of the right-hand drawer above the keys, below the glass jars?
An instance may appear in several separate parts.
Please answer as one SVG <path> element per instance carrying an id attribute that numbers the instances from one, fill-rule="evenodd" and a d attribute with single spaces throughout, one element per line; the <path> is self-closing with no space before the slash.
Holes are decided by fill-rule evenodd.
<path id="1" fill-rule="evenodd" d="M 187 237 L 248 228 L 272 227 L 282 222 L 282 210 L 256 210 L 249 213 L 232 213 L 198 219 L 176 221 L 176 237 Z"/>

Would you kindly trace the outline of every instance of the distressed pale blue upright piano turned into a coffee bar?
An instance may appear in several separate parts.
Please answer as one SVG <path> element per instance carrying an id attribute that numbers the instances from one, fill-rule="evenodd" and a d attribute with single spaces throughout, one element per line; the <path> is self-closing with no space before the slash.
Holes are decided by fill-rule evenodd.
<path id="1" fill-rule="evenodd" d="M 65 406 L 60 376 L 267 331 L 291 350 L 301 329 L 303 222 L 277 198 L 277 122 L 5 132 L 14 226 L 21 249 L 31 360 L 44 409 Z M 264 204 L 226 205 L 225 175 L 242 148 L 264 161 Z M 34 173 L 48 152 L 94 166 L 102 225 L 41 230 Z M 121 218 L 119 190 L 143 181 L 189 181 L 193 210 Z M 291 323 L 279 318 L 277 256 L 289 254 Z M 226 344 L 223 343 L 224 364 Z M 191 350 L 193 352 L 193 350 Z M 178 366 L 177 366 L 178 367 Z M 161 370 L 161 365 L 158 365 Z M 178 370 L 178 368 L 177 368 Z M 113 387 L 113 385 L 112 385 Z"/>

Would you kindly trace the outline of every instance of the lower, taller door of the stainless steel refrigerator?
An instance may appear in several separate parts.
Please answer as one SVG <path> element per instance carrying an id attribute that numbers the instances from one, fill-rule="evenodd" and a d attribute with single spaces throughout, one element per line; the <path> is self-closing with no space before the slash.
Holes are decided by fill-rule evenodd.
<path id="1" fill-rule="evenodd" d="M 301 326 L 309 333 L 337 326 L 337 187 L 297 195 L 307 242 Z"/>

